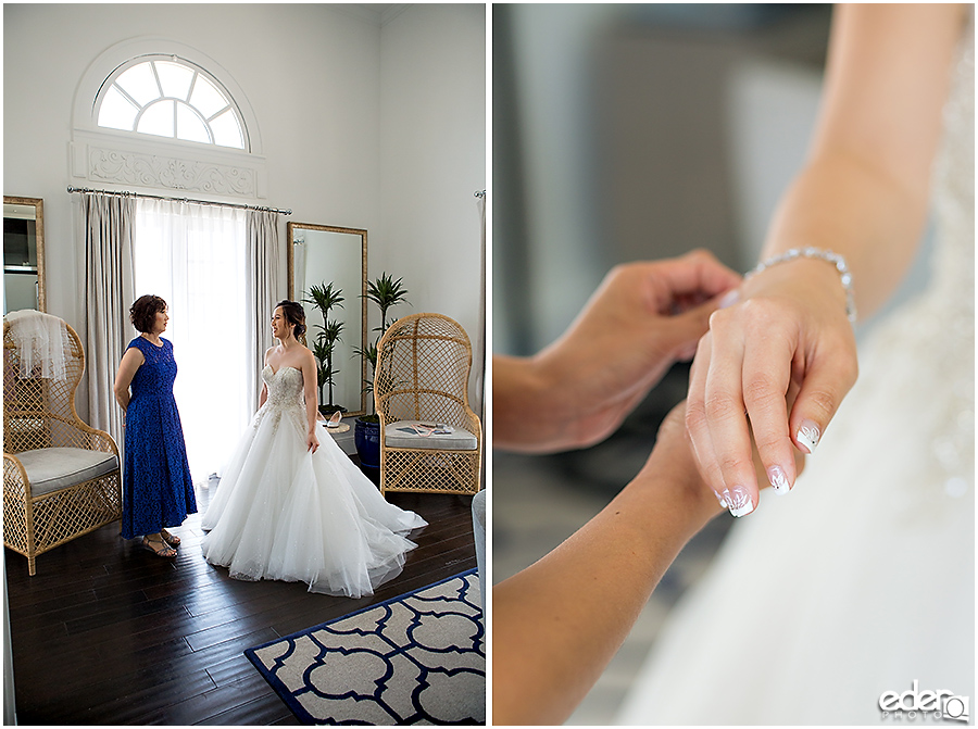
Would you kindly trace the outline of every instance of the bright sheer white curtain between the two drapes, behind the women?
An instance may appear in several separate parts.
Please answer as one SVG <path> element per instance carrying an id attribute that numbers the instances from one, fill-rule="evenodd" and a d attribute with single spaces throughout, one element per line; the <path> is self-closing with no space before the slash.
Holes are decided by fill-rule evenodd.
<path id="1" fill-rule="evenodd" d="M 136 297 L 168 304 L 174 395 L 195 482 L 220 473 L 254 413 L 246 211 L 139 199 Z"/>

